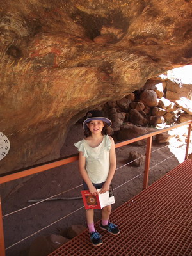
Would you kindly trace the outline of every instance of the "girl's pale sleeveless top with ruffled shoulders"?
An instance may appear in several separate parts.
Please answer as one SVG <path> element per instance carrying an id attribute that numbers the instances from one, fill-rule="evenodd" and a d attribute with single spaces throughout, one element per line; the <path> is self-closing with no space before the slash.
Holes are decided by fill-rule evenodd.
<path id="1" fill-rule="evenodd" d="M 92 183 L 105 182 L 109 173 L 109 151 L 111 140 L 108 135 L 104 135 L 102 142 L 97 147 L 90 147 L 88 141 L 81 140 L 74 144 L 78 151 L 83 152 L 86 157 L 85 169 Z"/>

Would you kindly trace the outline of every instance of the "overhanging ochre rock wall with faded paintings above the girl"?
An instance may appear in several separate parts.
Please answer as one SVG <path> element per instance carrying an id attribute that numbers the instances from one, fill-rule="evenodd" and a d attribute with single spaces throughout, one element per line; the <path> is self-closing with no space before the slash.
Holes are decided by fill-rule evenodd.
<path id="1" fill-rule="evenodd" d="M 192 60 L 191 1 L 0 0 L 9 172 L 59 157 L 70 125 Z"/>

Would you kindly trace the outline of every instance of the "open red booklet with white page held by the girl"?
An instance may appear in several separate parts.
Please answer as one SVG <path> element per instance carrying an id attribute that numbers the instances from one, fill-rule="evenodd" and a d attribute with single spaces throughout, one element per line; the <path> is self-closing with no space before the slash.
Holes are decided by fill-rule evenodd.
<path id="1" fill-rule="evenodd" d="M 100 190 L 101 189 L 97 189 L 98 192 Z M 89 190 L 82 190 L 81 195 L 85 209 L 102 209 L 104 206 L 115 203 L 112 185 L 110 185 L 109 191 L 103 194 L 94 196 Z"/>

